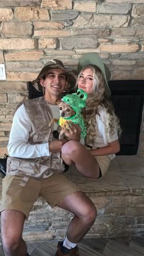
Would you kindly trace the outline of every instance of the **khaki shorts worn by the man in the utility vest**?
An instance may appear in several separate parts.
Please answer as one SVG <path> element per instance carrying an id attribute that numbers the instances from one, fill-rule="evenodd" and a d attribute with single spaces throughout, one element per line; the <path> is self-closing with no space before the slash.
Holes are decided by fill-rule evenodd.
<path id="1" fill-rule="evenodd" d="M 48 178 L 29 177 L 21 186 L 24 175 L 6 175 L 2 180 L 2 202 L 0 211 L 18 210 L 29 216 L 38 196 L 55 207 L 60 200 L 80 189 L 63 174 L 52 174 Z"/>

